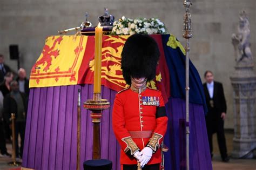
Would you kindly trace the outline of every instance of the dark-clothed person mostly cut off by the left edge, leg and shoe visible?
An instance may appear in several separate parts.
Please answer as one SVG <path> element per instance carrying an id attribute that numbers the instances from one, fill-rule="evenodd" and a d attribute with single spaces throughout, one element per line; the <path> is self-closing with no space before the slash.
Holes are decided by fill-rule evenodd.
<path id="1" fill-rule="evenodd" d="M 3 120 L 3 100 L 4 96 L 0 91 L 0 157 L 11 157 L 7 152 L 6 142 L 5 142 L 5 130 L 4 130 L 4 120 Z"/>

